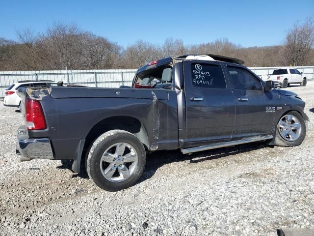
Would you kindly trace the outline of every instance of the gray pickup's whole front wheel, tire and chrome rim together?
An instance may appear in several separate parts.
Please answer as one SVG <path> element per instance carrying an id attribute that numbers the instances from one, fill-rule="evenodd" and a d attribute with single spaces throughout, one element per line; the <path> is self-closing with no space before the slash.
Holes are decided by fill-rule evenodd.
<path id="1" fill-rule="evenodd" d="M 282 116 L 277 124 L 275 145 L 293 147 L 302 144 L 306 134 L 306 126 L 302 116 L 291 111 Z"/>

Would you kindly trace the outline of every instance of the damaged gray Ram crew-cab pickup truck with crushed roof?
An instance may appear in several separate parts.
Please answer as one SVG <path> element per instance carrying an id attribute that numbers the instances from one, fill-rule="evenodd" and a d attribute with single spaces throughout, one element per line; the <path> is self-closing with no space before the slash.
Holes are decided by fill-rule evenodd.
<path id="1" fill-rule="evenodd" d="M 117 191 L 141 177 L 151 151 L 300 145 L 304 101 L 243 63 L 184 55 L 141 67 L 131 88 L 20 89 L 26 125 L 17 131 L 17 153 L 22 161 L 72 159 L 74 172 L 85 164 L 99 187 Z"/>

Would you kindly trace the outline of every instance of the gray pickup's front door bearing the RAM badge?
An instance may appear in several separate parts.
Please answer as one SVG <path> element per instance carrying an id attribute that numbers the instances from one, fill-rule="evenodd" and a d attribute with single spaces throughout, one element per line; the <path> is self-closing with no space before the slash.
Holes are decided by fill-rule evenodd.
<path id="1" fill-rule="evenodd" d="M 261 80 L 248 69 L 226 63 L 235 96 L 233 139 L 269 135 L 275 120 L 276 101 L 272 91 L 264 91 Z"/>

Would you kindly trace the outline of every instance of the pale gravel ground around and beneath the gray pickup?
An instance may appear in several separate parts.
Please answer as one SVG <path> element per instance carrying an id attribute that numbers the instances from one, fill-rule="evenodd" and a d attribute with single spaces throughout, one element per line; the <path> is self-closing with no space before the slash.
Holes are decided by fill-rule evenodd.
<path id="1" fill-rule="evenodd" d="M 292 87 L 314 121 L 314 81 Z M 0 102 L 0 235 L 262 235 L 314 228 L 314 124 L 294 148 L 262 144 L 148 156 L 133 187 L 96 187 L 60 161 L 20 162 L 20 113 Z"/>

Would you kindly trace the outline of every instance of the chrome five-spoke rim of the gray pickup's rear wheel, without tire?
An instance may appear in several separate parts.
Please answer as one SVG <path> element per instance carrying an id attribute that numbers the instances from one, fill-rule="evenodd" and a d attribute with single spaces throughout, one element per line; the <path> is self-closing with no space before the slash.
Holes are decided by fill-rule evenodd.
<path id="1" fill-rule="evenodd" d="M 100 161 L 103 176 L 111 182 L 121 182 L 134 172 L 138 155 L 130 144 L 117 143 L 107 148 Z"/>

